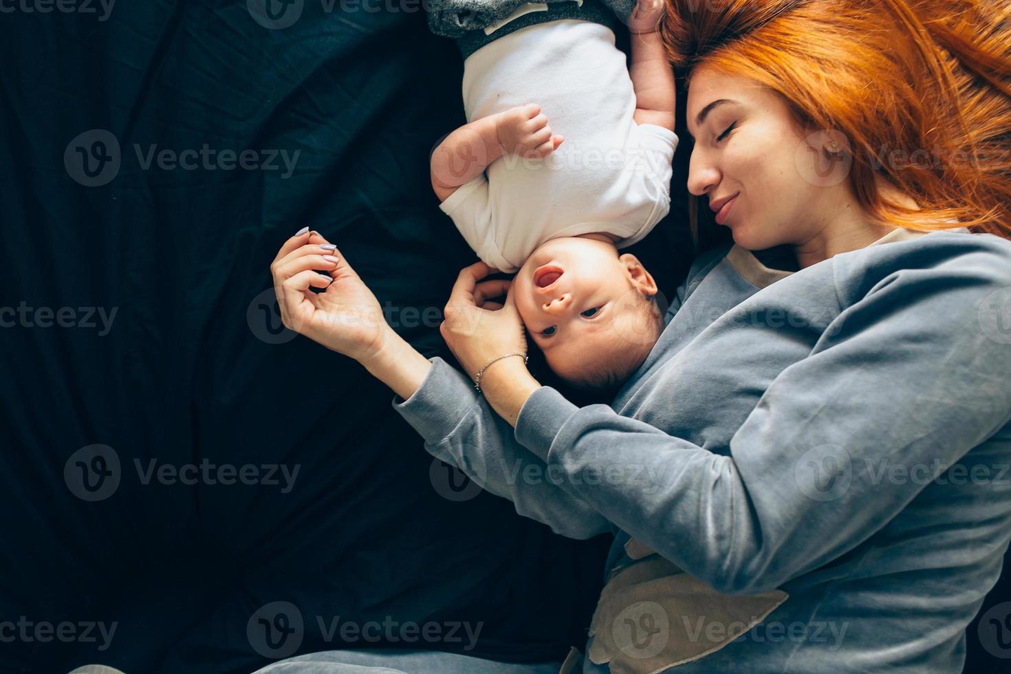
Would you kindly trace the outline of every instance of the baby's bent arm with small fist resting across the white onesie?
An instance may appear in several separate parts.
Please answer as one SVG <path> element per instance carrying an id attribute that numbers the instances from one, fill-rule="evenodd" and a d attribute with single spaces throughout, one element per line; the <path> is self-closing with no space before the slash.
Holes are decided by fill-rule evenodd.
<path id="1" fill-rule="evenodd" d="M 432 189 L 445 201 L 502 155 L 547 157 L 563 139 L 551 132 L 536 103 L 475 119 L 447 135 L 432 153 Z"/>

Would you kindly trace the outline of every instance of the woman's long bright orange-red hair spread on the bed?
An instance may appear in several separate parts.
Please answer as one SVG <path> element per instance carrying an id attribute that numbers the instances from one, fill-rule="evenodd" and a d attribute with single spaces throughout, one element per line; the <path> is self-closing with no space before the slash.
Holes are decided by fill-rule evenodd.
<path id="1" fill-rule="evenodd" d="M 1011 238 L 1011 2 L 666 4 L 661 35 L 685 85 L 699 66 L 748 77 L 805 127 L 843 133 L 870 219 Z M 876 175 L 918 208 L 888 200 Z"/>

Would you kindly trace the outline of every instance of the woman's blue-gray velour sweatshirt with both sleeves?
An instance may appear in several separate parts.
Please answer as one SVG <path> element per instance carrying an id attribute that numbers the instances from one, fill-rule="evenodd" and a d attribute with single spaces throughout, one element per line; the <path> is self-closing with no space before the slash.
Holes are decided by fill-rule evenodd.
<path id="1" fill-rule="evenodd" d="M 762 260 L 697 260 L 611 405 L 543 387 L 514 432 L 436 358 L 394 407 L 520 514 L 616 534 L 585 672 L 959 672 L 1011 538 L 1011 242 Z"/>

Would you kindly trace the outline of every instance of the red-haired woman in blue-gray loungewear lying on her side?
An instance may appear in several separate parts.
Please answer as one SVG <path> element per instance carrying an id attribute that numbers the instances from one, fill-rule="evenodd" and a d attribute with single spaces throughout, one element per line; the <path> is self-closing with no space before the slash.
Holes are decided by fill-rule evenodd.
<path id="1" fill-rule="evenodd" d="M 520 513 L 616 532 L 564 671 L 960 671 L 1011 538 L 1009 10 L 719 5 L 671 2 L 665 35 L 688 78 L 688 189 L 735 245 L 696 261 L 610 406 L 501 358 L 526 342 L 483 265 L 442 326 L 466 376 L 385 327 L 346 261 L 320 283 L 314 234 L 272 267 L 282 315 Z M 443 655 L 277 671 L 455 671 L 427 664 Z"/>

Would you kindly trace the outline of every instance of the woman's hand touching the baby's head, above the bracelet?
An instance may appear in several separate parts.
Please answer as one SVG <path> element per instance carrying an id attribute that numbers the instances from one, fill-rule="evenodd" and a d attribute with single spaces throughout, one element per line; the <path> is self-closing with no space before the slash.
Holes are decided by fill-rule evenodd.
<path id="1" fill-rule="evenodd" d="M 527 353 L 527 335 L 513 298 L 512 282 L 482 281 L 490 272 L 483 262 L 460 272 L 439 327 L 471 379 L 492 358 Z M 504 303 L 489 301 L 503 294 Z"/>

